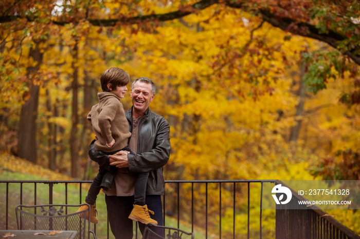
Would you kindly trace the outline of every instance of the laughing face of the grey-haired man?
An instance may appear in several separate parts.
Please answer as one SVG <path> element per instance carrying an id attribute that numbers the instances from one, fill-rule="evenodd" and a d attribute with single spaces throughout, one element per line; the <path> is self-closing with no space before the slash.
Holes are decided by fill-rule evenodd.
<path id="1" fill-rule="evenodd" d="M 145 113 L 150 102 L 153 101 L 155 94 L 151 92 L 151 84 L 137 81 L 131 89 L 130 96 L 132 98 L 133 109 L 138 113 Z"/>

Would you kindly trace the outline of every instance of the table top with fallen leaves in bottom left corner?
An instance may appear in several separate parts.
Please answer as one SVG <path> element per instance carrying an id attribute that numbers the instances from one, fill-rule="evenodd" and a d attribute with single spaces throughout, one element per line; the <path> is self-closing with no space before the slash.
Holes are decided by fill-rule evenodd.
<path id="1" fill-rule="evenodd" d="M 51 233 L 48 234 L 48 233 Z M 3 237 L 7 235 L 7 233 L 14 234 L 16 236 L 12 237 Z M 43 234 L 36 234 L 36 233 L 43 233 Z M 45 234 L 45 235 L 44 235 Z M 2 239 L 74 239 L 76 238 L 78 232 L 77 231 L 42 231 L 42 230 L 0 230 L 0 238 Z"/>

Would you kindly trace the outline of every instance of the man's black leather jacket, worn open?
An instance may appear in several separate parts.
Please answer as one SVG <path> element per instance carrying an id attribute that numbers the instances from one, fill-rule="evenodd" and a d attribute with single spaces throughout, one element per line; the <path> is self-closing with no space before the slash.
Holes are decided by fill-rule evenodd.
<path id="1" fill-rule="evenodd" d="M 128 119 L 129 131 L 133 130 L 132 110 L 125 111 Z M 165 180 L 163 167 L 170 157 L 170 126 L 167 120 L 155 114 L 149 108 L 141 118 L 138 126 L 137 154 L 128 154 L 129 172 L 150 172 L 146 189 L 147 195 L 164 195 Z M 108 170 L 102 180 L 101 186 L 111 188 L 114 180 L 114 166 L 110 166 L 108 155 L 95 148 L 94 141 L 89 147 L 89 157 L 99 163 L 100 167 Z"/>

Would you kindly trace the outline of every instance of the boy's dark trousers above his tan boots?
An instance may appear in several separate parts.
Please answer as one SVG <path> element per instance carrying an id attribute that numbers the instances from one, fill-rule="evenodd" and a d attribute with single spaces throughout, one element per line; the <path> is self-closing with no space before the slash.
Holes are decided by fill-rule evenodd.
<path id="1" fill-rule="evenodd" d="M 132 151 L 129 147 L 125 147 L 121 150 L 129 151 L 131 154 L 135 154 L 134 151 Z M 119 150 L 120 151 L 120 150 Z M 114 154 L 115 152 L 104 152 L 107 155 Z M 113 167 L 114 170 L 117 170 L 116 167 Z M 105 170 L 103 167 L 99 167 L 99 173 L 94 178 L 93 183 L 91 184 L 87 196 L 85 197 L 85 203 L 88 203 L 90 205 L 94 205 L 96 202 L 96 198 L 101 190 L 101 182 L 102 178 L 105 175 L 107 170 Z M 146 185 L 148 182 L 149 173 L 136 173 L 137 177 L 135 180 L 135 200 L 134 204 L 137 205 L 145 205 L 145 193 L 146 193 Z M 129 213 L 130 214 L 130 213 Z"/>

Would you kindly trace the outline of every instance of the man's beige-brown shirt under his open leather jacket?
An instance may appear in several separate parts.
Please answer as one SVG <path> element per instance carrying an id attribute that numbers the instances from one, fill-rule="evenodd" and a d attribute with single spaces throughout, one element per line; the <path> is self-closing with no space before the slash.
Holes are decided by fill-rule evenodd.
<path id="1" fill-rule="evenodd" d="M 137 140 L 139 132 L 139 122 L 141 117 L 133 118 L 133 131 L 130 137 L 129 148 L 137 153 Z M 119 168 L 115 175 L 111 189 L 104 188 L 103 192 L 108 196 L 132 196 L 135 194 L 136 174 L 129 173 L 126 168 Z M 115 184 L 115 185 L 114 185 Z"/>

